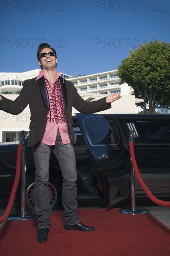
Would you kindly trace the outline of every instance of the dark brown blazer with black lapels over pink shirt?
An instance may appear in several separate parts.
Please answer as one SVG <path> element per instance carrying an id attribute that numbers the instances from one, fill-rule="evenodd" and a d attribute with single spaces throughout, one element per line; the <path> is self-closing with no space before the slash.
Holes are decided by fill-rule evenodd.
<path id="1" fill-rule="evenodd" d="M 27 146 L 33 146 L 41 140 L 46 128 L 47 114 L 49 110 L 44 77 L 37 81 L 35 80 L 36 78 L 24 81 L 23 88 L 16 100 L 12 101 L 1 95 L 2 101 L 0 101 L 0 110 L 13 115 L 20 114 L 29 104 L 31 117 Z M 80 113 L 91 114 L 111 108 L 111 104 L 107 104 L 105 98 L 99 99 L 98 101 L 84 101 L 78 94 L 72 82 L 66 80 L 63 82 L 61 77 L 60 82 L 68 128 L 71 133 L 72 143 L 75 143 L 72 107 L 76 108 Z"/>

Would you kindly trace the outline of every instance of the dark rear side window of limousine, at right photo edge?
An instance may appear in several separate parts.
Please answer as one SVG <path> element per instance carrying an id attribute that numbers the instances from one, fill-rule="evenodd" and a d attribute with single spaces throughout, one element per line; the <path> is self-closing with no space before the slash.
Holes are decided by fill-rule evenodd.
<path id="1" fill-rule="evenodd" d="M 137 121 L 144 143 L 170 143 L 170 122 Z"/>

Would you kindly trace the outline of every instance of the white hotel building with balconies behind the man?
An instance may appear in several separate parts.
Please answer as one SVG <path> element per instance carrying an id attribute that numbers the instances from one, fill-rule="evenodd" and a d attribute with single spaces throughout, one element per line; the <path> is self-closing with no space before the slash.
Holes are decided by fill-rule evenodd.
<path id="1" fill-rule="evenodd" d="M 40 69 L 34 69 L 22 73 L 0 73 L 0 94 L 11 100 L 15 100 L 20 94 L 23 82 L 31 79 L 39 74 Z M 109 94 L 119 92 L 123 97 L 119 101 L 112 104 L 112 108 L 100 113 L 138 113 L 136 107 L 140 99 L 136 99 L 131 95 L 133 89 L 127 84 L 119 85 L 118 70 L 111 70 L 98 74 L 90 74 L 84 76 L 72 77 L 64 73 L 60 73 L 66 80 L 71 81 L 86 101 L 98 100 Z M 72 115 L 78 113 L 73 108 Z M 20 115 L 10 115 L 0 110 L 0 142 L 18 141 L 21 130 L 29 131 L 30 110 L 27 106 Z"/>

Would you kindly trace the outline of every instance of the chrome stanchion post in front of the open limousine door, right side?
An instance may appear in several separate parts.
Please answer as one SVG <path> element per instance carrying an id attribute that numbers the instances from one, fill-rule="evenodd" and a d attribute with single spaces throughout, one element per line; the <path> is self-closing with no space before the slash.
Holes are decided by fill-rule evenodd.
<path id="1" fill-rule="evenodd" d="M 129 135 L 129 141 L 133 143 L 134 141 L 134 131 L 130 130 L 130 135 Z M 131 206 L 128 207 L 123 207 L 119 210 L 119 212 L 124 213 L 124 214 L 146 214 L 148 213 L 148 210 L 145 208 L 136 208 L 136 201 L 135 201 L 135 170 L 132 164 L 132 159 L 131 159 Z"/>

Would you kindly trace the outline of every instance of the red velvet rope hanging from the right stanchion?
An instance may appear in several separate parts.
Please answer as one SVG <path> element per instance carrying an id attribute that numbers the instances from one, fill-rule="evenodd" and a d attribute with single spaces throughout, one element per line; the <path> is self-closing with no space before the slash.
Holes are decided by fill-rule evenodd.
<path id="1" fill-rule="evenodd" d="M 144 183 L 140 173 L 139 173 L 139 169 L 137 167 L 137 162 L 135 159 L 135 154 L 134 154 L 134 149 L 133 149 L 133 143 L 132 141 L 129 142 L 129 148 L 130 148 L 130 152 L 131 152 L 131 161 L 133 164 L 133 167 L 135 169 L 135 173 L 137 175 L 137 179 L 139 181 L 139 183 L 141 184 L 142 188 L 144 189 L 146 195 L 148 195 L 148 197 L 150 198 L 151 201 L 153 201 L 154 203 L 156 203 L 157 205 L 160 206 L 165 206 L 165 207 L 170 207 L 170 202 L 166 202 L 166 201 L 162 201 L 157 199 L 151 192 L 150 190 L 147 188 L 146 184 Z"/>

